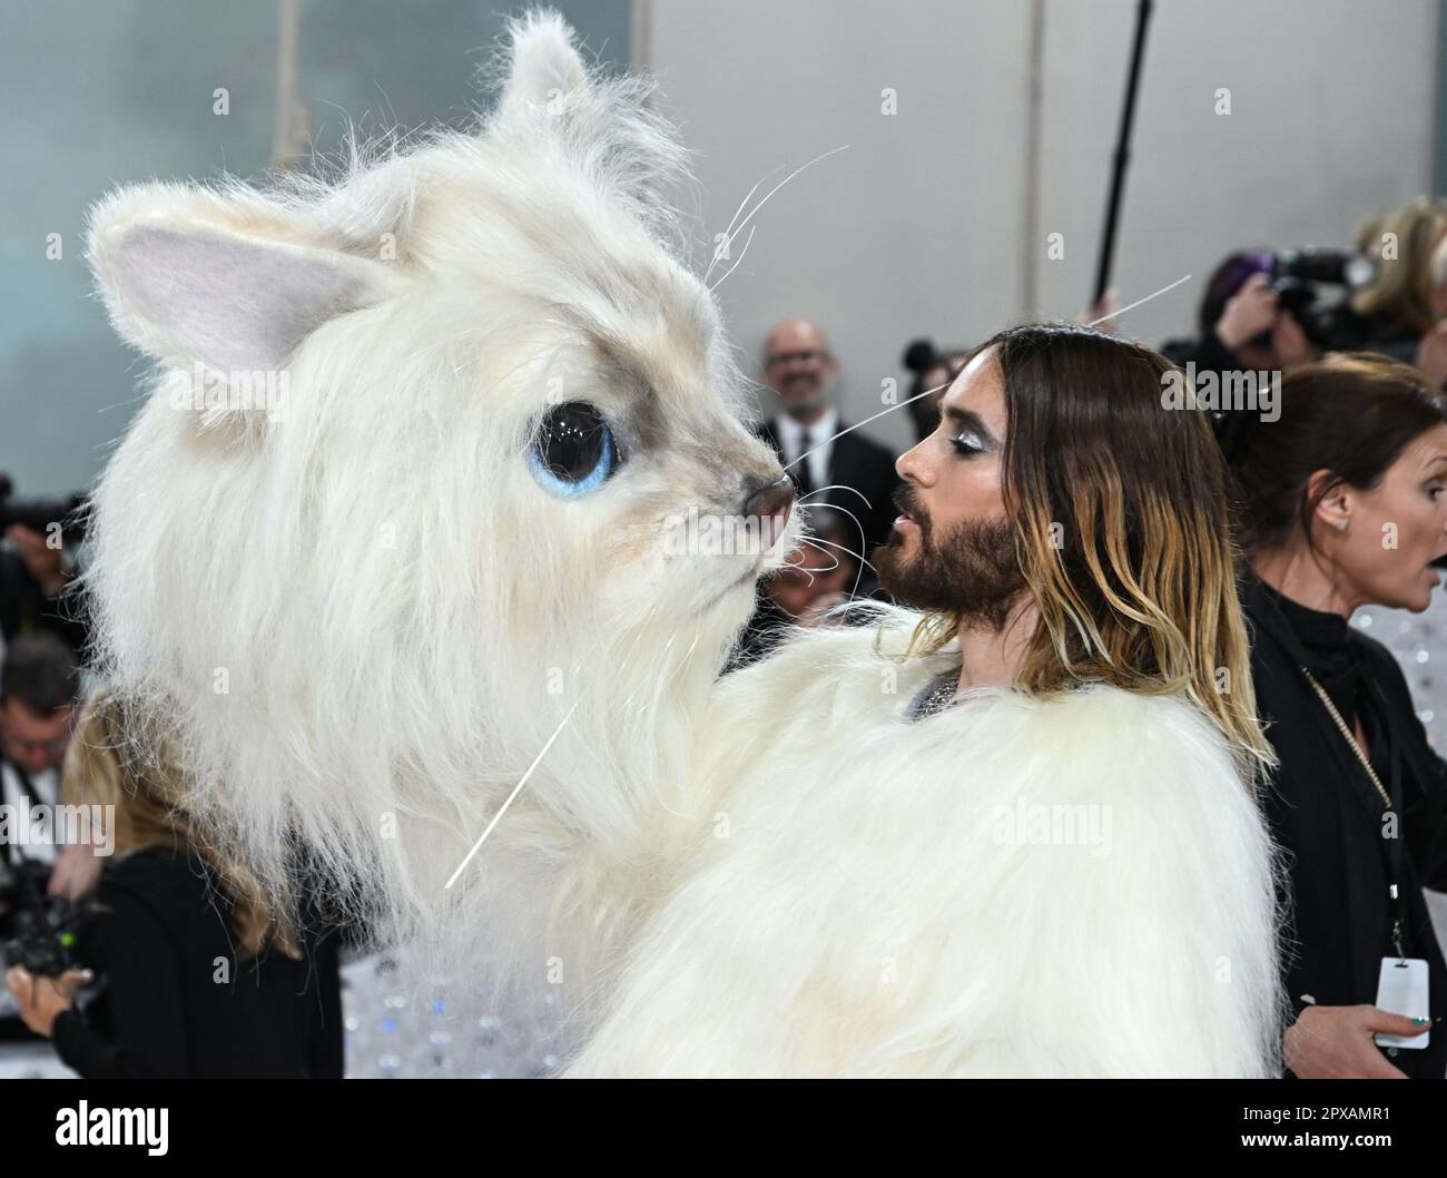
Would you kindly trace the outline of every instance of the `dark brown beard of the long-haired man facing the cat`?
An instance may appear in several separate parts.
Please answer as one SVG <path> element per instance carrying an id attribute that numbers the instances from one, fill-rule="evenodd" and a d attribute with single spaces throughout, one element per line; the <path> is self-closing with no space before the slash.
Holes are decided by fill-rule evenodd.
<path id="1" fill-rule="evenodd" d="M 967 522 L 935 535 L 929 515 L 910 488 L 901 488 L 894 502 L 919 527 L 919 551 L 913 559 L 906 557 L 904 535 L 899 530 L 891 533 L 874 551 L 880 585 L 903 605 L 1001 630 L 1026 588 L 1014 547 L 1014 524 L 1010 520 Z"/>

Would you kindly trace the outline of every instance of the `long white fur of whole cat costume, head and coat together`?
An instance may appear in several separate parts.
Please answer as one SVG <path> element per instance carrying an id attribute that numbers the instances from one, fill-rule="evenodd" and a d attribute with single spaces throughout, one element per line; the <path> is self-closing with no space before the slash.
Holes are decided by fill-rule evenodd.
<path id="1" fill-rule="evenodd" d="M 1266 845 L 1187 705 L 1009 695 L 906 728 L 923 669 L 881 692 L 864 631 L 716 685 L 800 524 L 764 557 L 667 543 L 780 470 L 645 97 L 534 14 L 473 135 L 97 207 L 101 294 L 158 382 L 91 582 L 191 808 L 278 884 L 310 848 L 382 935 L 559 986 L 598 1029 L 580 1074 L 1265 1071 Z M 282 420 L 169 395 L 273 366 Z M 576 501 L 527 462 L 569 401 L 627 452 Z M 1019 792 L 1113 806 L 1116 849 L 988 844 Z"/>

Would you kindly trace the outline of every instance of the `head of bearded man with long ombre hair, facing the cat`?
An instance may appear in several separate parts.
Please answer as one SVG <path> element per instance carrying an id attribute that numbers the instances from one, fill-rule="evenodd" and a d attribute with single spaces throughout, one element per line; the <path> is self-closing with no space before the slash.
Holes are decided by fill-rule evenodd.
<path id="1" fill-rule="evenodd" d="M 958 638 L 956 695 L 1104 683 L 1179 695 L 1243 774 L 1255 719 L 1227 492 L 1200 414 L 1162 407 L 1169 362 L 1069 326 L 1001 331 L 899 462 L 901 515 L 875 553 L 925 648 Z"/>

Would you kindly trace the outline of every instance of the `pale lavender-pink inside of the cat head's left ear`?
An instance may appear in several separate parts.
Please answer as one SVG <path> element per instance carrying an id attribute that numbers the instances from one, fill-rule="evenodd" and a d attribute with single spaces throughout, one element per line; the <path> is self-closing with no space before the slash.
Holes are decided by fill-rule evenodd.
<path id="1" fill-rule="evenodd" d="M 116 247 L 120 298 L 166 359 L 275 370 L 327 320 L 368 301 L 370 263 L 204 229 L 136 224 Z"/>

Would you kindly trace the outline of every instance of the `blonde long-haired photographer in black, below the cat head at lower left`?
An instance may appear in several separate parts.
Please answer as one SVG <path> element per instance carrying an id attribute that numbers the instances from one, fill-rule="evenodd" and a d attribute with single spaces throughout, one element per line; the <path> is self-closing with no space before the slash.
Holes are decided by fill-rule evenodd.
<path id="1" fill-rule="evenodd" d="M 164 748 L 113 696 L 85 705 L 65 796 L 114 808 L 116 855 L 77 949 L 104 991 L 82 1013 L 87 974 L 16 967 L 22 1017 L 87 1080 L 340 1077 L 336 938 L 304 939 L 243 864 L 195 836 Z"/>

